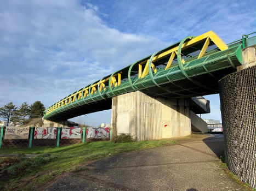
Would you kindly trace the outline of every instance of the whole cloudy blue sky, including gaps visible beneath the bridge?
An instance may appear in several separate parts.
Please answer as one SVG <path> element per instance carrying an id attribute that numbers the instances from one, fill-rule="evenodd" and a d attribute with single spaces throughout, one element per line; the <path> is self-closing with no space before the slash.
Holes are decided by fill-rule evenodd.
<path id="1" fill-rule="evenodd" d="M 256 2 L 1 1 L 0 106 L 48 107 L 90 82 L 188 35 L 216 32 L 226 43 L 256 31 Z M 219 95 L 207 96 L 221 120 Z M 93 125 L 111 111 L 77 117 Z M 92 120 L 93 119 L 93 120 Z"/>

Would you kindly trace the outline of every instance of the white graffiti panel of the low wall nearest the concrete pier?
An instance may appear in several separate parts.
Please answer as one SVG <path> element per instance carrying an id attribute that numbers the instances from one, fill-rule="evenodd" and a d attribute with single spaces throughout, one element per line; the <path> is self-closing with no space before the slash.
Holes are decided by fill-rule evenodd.
<path id="1" fill-rule="evenodd" d="M 102 128 L 92 128 L 88 127 L 86 132 L 86 137 L 88 139 L 108 139 L 109 138 L 109 127 Z"/>

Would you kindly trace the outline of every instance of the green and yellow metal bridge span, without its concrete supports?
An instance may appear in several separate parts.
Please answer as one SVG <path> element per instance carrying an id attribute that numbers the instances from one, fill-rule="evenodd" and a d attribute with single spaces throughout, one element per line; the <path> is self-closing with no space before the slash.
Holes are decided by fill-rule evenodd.
<path id="1" fill-rule="evenodd" d="M 111 109 L 112 97 L 137 90 L 167 98 L 219 93 L 218 81 L 242 64 L 246 46 L 247 35 L 229 45 L 213 31 L 186 37 L 64 97 L 44 111 L 44 119 L 65 120 Z"/>

